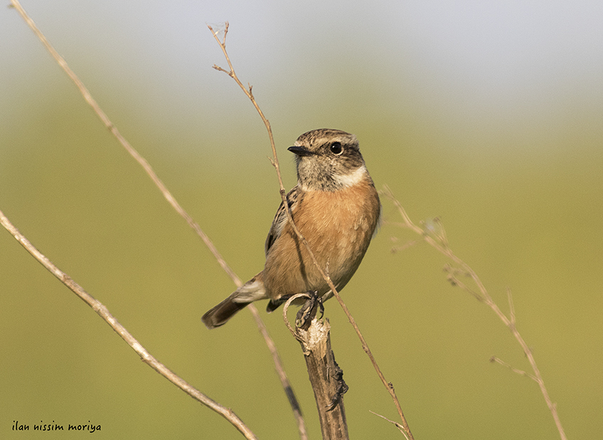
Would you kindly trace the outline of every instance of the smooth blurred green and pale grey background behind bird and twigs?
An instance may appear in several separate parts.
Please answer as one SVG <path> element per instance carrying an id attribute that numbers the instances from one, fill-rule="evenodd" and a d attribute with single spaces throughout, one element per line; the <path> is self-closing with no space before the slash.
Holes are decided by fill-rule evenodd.
<path id="1" fill-rule="evenodd" d="M 286 147 L 353 132 L 376 185 L 451 247 L 503 311 L 506 289 L 571 439 L 603 431 L 603 4 L 599 1 L 41 1 L 23 6 L 242 279 L 262 268 L 279 203 L 265 129 Z M 233 291 L 12 9 L 0 9 L 0 209 L 159 360 L 262 439 L 296 439 L 250 313 L 208 331 Z M 555 439 L 529 365 L 498 318 L 453 289 L 446 259 L 384 224 L 343 298 L 418 439 Z M 392 240 L 395 237 L 397 242 Z M 388 393 L 335 302 L 333 348 L 352 438 L 402 438 Z M 259 305 L 263 309 L 263 304 Z M 265 315 L 319 438 L 297 342 Z M 90 308 L 0 233 L 0 437 L 100 424 L 102 439 L 238 439 L 144 365 Z M 64 432 L 46 433 L 63 439 Z"/>

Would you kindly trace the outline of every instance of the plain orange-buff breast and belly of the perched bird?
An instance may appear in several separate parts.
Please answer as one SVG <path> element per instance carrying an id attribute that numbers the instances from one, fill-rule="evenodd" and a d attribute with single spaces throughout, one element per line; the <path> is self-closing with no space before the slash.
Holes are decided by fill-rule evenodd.
<path id="1" fill-rule="evenodd" d="M 358 269 L 378 222 L 379 197 L 370 178 L 341 191 L 306 191 L 293 208 L 295 225 L 342 289 Z M 330 290 L 288 223 L 267 254 L 264 284 L 272 299 Z"/>

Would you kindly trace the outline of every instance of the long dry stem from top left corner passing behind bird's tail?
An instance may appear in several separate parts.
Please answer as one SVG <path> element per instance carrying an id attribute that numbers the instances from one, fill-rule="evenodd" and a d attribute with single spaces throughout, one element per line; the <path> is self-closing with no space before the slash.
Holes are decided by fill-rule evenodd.
<path id="1" fill-rule="evenodd" d="M 77 75 L 75 75 L 73 70 L 71 70 L 69 68 L 68 64 L 65 62 L 63 57 L 61 57 L 59 55 L 59 53 L 55 50 L 55 48 L 53 48 L 53 46 L 50 44 L 50 42 L 48 41 L 46 36 L 44 36 L 43 33 L 38 28 L 38 26 L 36 26 L 36 23 L 33 22 L 31 17 L 28 16 L 28 14 L 23 9 L 21 4 L 19 4 L 18 0 L 11 0 L 11 6 L 13 6 L 14 9 L 16 9 L 18 11 L 18 13 L 21 15 L 23 20 L 31 28 L 33 33 L 36 34 L 38 39 L 43 43 L 44 47 L 46 47 L 46 49 L 48 50 L 50 55 L 52 55 L 52 57 L 58 63 L 58 65 L 60 65 L 60 67 L 63 68 L 65 73 L 68 75 L 68 77 L 70 77 L 70 80 L 72 80 L 75 83 L 75 85 L 80 90 L 82 97 L 84 97 L 85 101 L 88 104 L 90 104 L 90 107 L 92 107 L 92 109 L 97 114 L 97 117 L 100 118 L 102 123 L 105 124 L 105 127 L 107 127 L 107 129 L 110 130 L 110 132 L 113 134 L 113 136 L 117 139 L 117 141 L 119 141 L 120 144 L 122 144 L 124 149 L 126 149 L 126 151 L 134 158 L 134 160 L 137 161 L 139 163 L 139 165 L 142 166 L 142 168 L 144 168 L 144 171 L 146 172 L 146 174 L 149 176 L 149 178 L 151 178 L 151 181 L 153 181 L 153 183 L 155 183 L 156 187 L 159 188 L 159 191 L 161 191 L 161 194 L 164 195 L 164 198 L 171 205 L 171 207 L 174 208 L 174 210 L 176 210 L 176 212 L 179 215 L 181 215 L 181 217 L 184 220 L 186 220 L 188 225 L 193 228 L 193 230 L 197 233 L 197 235 L 199 237 L 201 237 L 201 240 L 203 240 L 203 242 L 208 247 L 210 252 L 213 254 L 213 256 L 215 257 L 218 264 L 220 264 L 220 267 L 222 267 L 224 272 L 226 272 L 226 274 L 228 274 L 230 279 L 233 280 L 233 282 L 235 283 L 235 285 L 237 287 L 242 286 L 242 281 L 239 279 L 239 277 L 237 277 L 237 274 L 235 274 L 233 269 L 230 268 L 230 266 L 225 261 L 225 259 L 222 257 L 220 252 L 218 252 L 218 249 L 215 247 L 215 245 L 213 245 L 213 242 L 210 240 L 208 235 L 206 235 L 206 233 L 203 232 L 203 230 L 201 229 L 201 226 L 199 226 L 198 223 L 193 220 L 191 215 L 188 215 L 186 210 L 184 210 L 184 208 L 182 208 L 182 206 L 180 205 L 180 203 L 178 203 L 178 201 L 176 200 L 174 195 L 171 194 L 171 192 L 165 186 L 163 181 L 161 181 L 159 176 L 157 176 L 157 174 L 155 173 L 155 171 L 153 170 L 153 168 L 151 167 L 149 162 L 147 162 L 146 159 L 144 159 L 144 157 L 141 156 L 139 154 L 139 152 L 136 149 L 134 149 L 134 147 L 131 144 L 129 144 L 127 139 L 125 139 L 124 136 L 122 136 L 122 134 L 119 133 L 119 130 L 117 129 L 117 127 L 115 127 L 114 124 L 110 121 L 109 117 L 107 117 L 107 114 L 105 114 L 105 112 L 102 111 L 100 106 L 97 104 L 97 102 L 94 100 L 94 98 L 92 97 L 90 92 L 87 90 L 87 87 L 85 87 L 84 83 L 78 78 Z M 258 313 L 258 311 L 257 311 L 257 308 L 253 304 L 250 304 L 250 306 L 248 306 L 247 308 L 252 313 L 252 316 L 255 319 L 257 327 L 260 329 L 260 333 L 262 334 L 262 337 L 265 340 L 268 350 L 270 350 L 270 354 L 272 355 L 272 360 L 274 362 L 274 368 L 277 371 L 277 375 L 279 376 L 279 380 L 281 381 L 281 385 L 285 391 L 285 394 L 287 395 L 287 398 L 289 399 L 289 402 L 292 405 L 292 409 L 293 409 L 294 415 L 297 419 L 298 427 L 300 430 L 301 439 L 304 440 L 304 439 L 306 439 L 306 434 L 305 434 L 306 431 L 305 431 L 305 425 L 304 425 L 303 419 L 301 419 L 301 409 L 299 409 L 299 404 L 297 402 L 297 398 L 295 397 L 293 388 L 292 388 L 289 380 L 287 379 L 287 373 L 284 371 L 284 366 L 282 365 L 282 360 L 280 359 L 278 350 L 276 348 L 276 345 L 274 344 L 274 340 L 272 340 L 270 333 L 268 333 L 267 328 L 266 328 L 264 322 L 262 321 L 262 318 L 260 317 L 260 313 Z M 301 419 L 301 422 L 300 422 L 300 419 Z"/>

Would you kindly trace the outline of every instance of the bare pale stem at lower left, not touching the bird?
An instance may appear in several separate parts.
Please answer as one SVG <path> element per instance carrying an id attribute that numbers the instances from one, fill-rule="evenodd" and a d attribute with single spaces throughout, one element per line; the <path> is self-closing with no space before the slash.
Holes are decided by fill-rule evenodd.
<path id="1" fill-rule="evenodd" d="M 206 395 L 204 395 L 199 390 L 196 390 L 192 385 L 188 384 L 181 377 L 176 375 L 175 372 L 171 371 L 164 364 L 159 362 L 156 358 L 154 358 L 146 349 L 138 342 L 134 336 L 132 336 L 129 331 L 126 330 L 122 324 L 117 322 L 117 319 L 110 313 L 110 311 L 101 304 L 100 301 L 95 299 L 92 295 L 88 294 L 80 284 L 73 281 L 68 274 L 65 274 L 62 270 L 50 262 L 44 254 L 42 254 L 36 247 L 34 247 L 29 240 L 24 237 L 21 232 L 10 222 L 10 220 L 4 215 L 4 213 L 0 210 L 0 224 L 4 226 L 4 228 L 11 233 L 13 237 L 19 242 L 21 246 L 23 246 L 27 252 L 29 252 L 33 258 L 38 260 L 43 267 L 46 267 L 48 272 L 53 274 L 60 282 L 65 284 L 74 294 L 76 294 L 82 301 L 84 301 L 88 306 L 92 307 L 98 315 L 103 318 L 107 324 L 111 326 L 111 328 L 117 333 L 126 343 L 132 347 L 132 349 L 147 363 L 153 370 L 159 372 L 160 375 L 164 376 L 167 380 L 172 382 L 176 387 L 186 392 L 189 396 L 196 399 L 198 402 L 206 405 L 213 411 L 220 414 L 222 417 L 228 420 L 231 424 L 237 428 L 241 434 L 243 434 L 247 439 L 256 439 L 257 437 L 252 431 L 242 422 L 242 420 L 229 408 L 223 407 L 218 402 L 215 402 L 213 399 L 210 399 Z"/>

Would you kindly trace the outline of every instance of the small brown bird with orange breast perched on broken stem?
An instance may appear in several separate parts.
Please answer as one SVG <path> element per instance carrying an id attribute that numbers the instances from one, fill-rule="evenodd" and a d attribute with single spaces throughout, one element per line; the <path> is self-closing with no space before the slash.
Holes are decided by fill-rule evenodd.
<path id="1" fill-rule="evenodd" d="M 287 194 L 295 225 L 338 291 L 360 265 L 380 217 L 380 201 L 353 134 L 318 129 L 299 136 L 297 185 Z M 292 230 L 283 203 L 265 245 L 264 270 L 212 308 L 202 321 L 208 328 L 226 323 L 247 304 L 270 299 L 274 311 L 293 294 L 333 296 L 306 247 Z M 303 302 L 303 301 L 302 301 Z"/>

